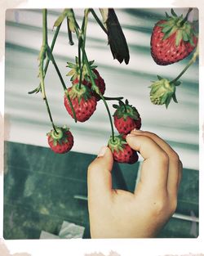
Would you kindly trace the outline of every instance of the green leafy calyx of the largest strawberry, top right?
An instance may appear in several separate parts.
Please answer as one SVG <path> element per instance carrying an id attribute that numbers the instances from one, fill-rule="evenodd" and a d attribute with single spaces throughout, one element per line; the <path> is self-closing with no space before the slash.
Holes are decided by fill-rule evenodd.
<path id="1" fill-rule="evenodd" d="M 188 11 L 189 13 L 189 11 Z M 175 11 L 171 9 L 172 16 L 169 16 L 166 13 L 166 20 L 160 20 L 157 25 L 162 27 L 163 40 L 166 38 L 170 38 L 175 35 L 175 46 L 178 47 L 183 40 L 184 42 L 189 42 L 192 46 L 195 46 L 193 39 L 196 37 L 197 34 L 195 29 L 193 29 L 192 23 L 190 23 L 187 19 L 187 16 L 183 17 L 177 16 Z"/>

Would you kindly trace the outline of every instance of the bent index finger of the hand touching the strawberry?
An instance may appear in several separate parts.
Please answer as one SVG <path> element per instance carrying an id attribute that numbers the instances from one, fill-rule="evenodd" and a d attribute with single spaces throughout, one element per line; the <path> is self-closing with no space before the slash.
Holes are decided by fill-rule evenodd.
<path id="1" fill-rule="evenodd" d="M 144 158 L 140 186 L 150 193 L 166 191 L 169 169 L 168 155 L 150 137 L 128 134 L 126 141 L 132 149 L 140 151 Z"/>

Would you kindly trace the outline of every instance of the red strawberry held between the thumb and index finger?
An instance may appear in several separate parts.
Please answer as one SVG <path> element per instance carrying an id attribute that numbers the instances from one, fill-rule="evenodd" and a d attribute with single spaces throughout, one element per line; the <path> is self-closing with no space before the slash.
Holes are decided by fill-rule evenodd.
<path id="1" fill-rule="evenodd" d="M 126 140 L 122 135 L 111 136 L 108 146 L 113 153 L 113 159 L 118 163 L 134 164 L 138 160 L 138 155 L 135 150 L 126 143 Z"/>

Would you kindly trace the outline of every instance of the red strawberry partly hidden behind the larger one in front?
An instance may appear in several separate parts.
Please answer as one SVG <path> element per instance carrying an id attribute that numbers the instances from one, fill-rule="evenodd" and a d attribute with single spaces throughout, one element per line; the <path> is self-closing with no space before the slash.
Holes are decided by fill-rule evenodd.
<path id="1" fill-rule="evenodd" d="M 90 66 L 91 66 L 91 72 L 92 72 L 91 74 L 95 80 L 95 85 L 99 88 L 100 93 L 102 95 L 104 95 L 104 91 L 105 91 L 104 79 L 102 79 L 102 77 L 100 76 L 100 73 L 95 69 L 96 66 L 92 66 L 93 62 L 94 61 L 89 62 Z M 67 74 L 67 75 L 72 76 L 71 77 L 72 83 L 73 84 L 79 83 L 81 70 L 79 69 L 79 65 L 78 65 L 78 57 L 76 57 L 76 65 L 68 62 L 67 66 L 72 69 Z M 91 85 L 92 85 L 91 79 L 88 74 L 88 71 L 86 70 L 85 65 L 83 65 L 83 69 L 82 69 L 82 84 L 88 86 L 91 90 L 93 90 L 93 88 L 91 88 Z M 100 96 L 97 93 L 93 92 L 93 95 L 95 96 L 97 101 L 100 101 Z"/>

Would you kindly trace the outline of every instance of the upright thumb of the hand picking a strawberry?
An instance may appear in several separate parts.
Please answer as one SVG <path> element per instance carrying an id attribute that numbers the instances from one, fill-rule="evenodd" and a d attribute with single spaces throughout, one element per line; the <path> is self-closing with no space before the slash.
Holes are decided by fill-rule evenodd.
<path id="1" fill-rule="evenodd" d="M 98 157 L 88 168 L 88 200 L 99 202 L 109 197 L 112 192 L 111 171 L 113 168 L 113 155 L 109 147 L 103 146 Z M 100 201 L 101 202 L 101 201 Z"/>

